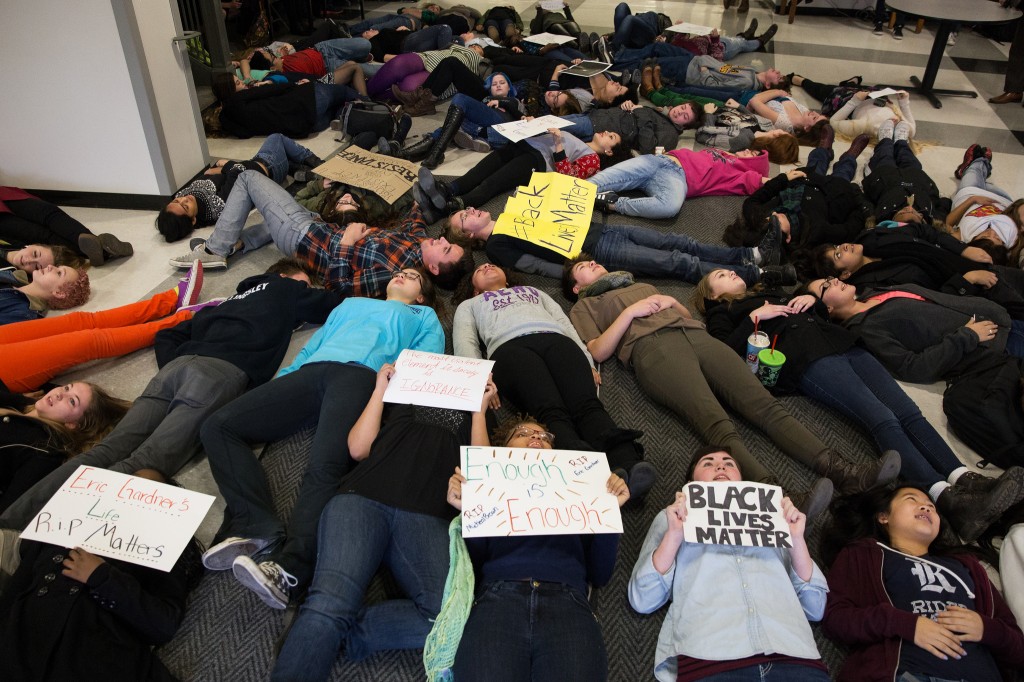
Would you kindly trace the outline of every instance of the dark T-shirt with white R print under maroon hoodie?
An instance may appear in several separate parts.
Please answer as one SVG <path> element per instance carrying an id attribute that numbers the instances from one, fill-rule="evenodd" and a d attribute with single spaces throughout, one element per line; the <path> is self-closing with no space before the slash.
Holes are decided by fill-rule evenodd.
<path id="1" fill-rule="evenodd" d="M 886 551 L 882 564 L 886 591 L 893 606 L 936 620 L 947 606 L 975 609 L 974 580 L 956 559 L 926 554 L 910 557 Z M 998 668 L 988 647 L 964 642 L 967 655 L 942 660 L 912 641 L 900 648 L 898 675 L 920 673 L 950 680 L 999 680 Z"/>

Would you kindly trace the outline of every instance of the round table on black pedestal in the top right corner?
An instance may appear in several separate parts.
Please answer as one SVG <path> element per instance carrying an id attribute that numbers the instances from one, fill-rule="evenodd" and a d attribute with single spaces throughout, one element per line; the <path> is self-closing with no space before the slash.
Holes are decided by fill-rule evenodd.
<path id="1" fill-rule="evenodd" d="M 914 92 L 928 97 L 935 109 L 942 109 L 938 95 L 955 97 L 977 97 L 974 90 L 941 90 L 936 89 L 935 76 L 939 73 L 939 62 L 946 48 L 946 40 L 955 24 L 1005 24 L 1019 18 L 1019 9 L 1000 7 L 996 2 L 988 0 L 886 0 L 890 9 L 905 12 L 914 16 L 938 19 L 939 28 L 935 32 L 935 43 L 932 53 L 928 55 L 928 66 L 925 67 L 925 77 L 910 77 Z M 893 87 L 899 87 L 898 85 Z"/>

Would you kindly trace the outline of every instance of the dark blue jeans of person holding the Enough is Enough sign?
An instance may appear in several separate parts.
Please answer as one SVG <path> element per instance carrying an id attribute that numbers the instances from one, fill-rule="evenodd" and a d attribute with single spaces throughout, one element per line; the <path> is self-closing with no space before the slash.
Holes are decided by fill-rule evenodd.
<path id="1" fill-rule="evenodd" d="M 601 628 L 578 590 L 561 583 L 498 581 L 478 594 L 459 642 L 454 679 L 608 679 Z"/>

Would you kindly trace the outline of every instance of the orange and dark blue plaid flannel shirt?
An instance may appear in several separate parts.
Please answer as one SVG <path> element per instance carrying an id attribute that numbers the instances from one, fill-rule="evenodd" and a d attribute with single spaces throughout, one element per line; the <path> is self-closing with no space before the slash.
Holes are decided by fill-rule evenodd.
<path id="1" fill-rule="evenodd" d="M 427 224 L 414 206 L 398 229 L 371 227 L 353 246 L 341 243 L 344 235 L 339 225 L 314 222 L 299 241 L 296 256 L 324 279 L 329 290 L 380 298 L 392 273 L 422 264 L 420 243 L 427 239 Z"/>

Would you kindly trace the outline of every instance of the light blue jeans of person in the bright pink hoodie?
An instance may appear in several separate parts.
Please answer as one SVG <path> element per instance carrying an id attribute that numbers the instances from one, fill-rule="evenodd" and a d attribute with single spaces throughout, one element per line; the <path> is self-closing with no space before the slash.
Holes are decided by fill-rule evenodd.
<path id="1" fill-rule="evenodd" d="M 645 154 L 615 164 L 590 178 L 598 191 L 643 189 L 643 198 L 621 197 L 615 212 L 641 218 L 671 218 L 686 199 L 686 172 L 669 156 Z"/>

